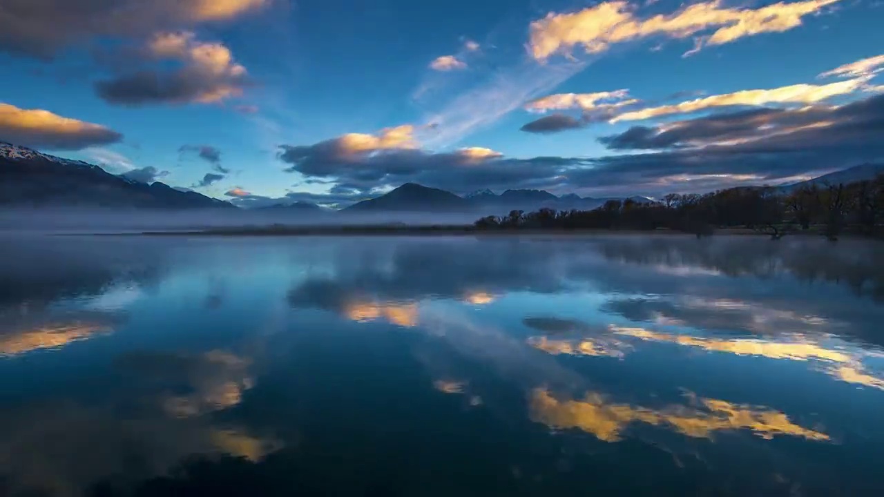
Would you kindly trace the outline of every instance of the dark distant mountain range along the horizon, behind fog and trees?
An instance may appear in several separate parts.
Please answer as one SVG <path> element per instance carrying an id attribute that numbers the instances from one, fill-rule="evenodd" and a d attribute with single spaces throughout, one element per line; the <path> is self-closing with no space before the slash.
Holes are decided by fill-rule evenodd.
<path id="1" fill-rule="evenodd" d="M 814 180 L 781 187 L 790 191 L 811 184 L 847 183 L 884 173 L 884 164 L 863 164 Z M 636 203 L 652 203 L 644 196 L 629 197 Z M 552 195 L 544 190 L 511 189 L 495 194 L 489 189 L 469 195 L 406 183 L 385 195 L 343 209 L 347 213 L 445 212 L 504 215 L 510 210 L 591 210 L 609 200 L 575 194 Z M 0 141 L 0 206 L 15 207 L 114 207 L 151 209 L 235 209 L 232 203 L 194 191 L 179 190 L 162 182 L 143 183 L 105 172 L 82 161 L 42 154 L 33 149 Z M 279 203 L 252 211 L 274 214 L 324 214 L 314 203 Z"/>

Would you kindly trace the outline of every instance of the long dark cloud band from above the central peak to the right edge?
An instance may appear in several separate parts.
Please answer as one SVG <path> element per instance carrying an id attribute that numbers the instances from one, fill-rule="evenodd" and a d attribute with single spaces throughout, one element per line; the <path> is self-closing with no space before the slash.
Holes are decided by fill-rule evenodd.
<path id="1" fill-rule="evenodd" d="M 286 171 L 335 181 L 340 193 L 370 195 L 415 182 L 465 194 L 479 188 L 541 188 L 582 195 L 705 193 L 775 184 L 884 159 L 884 96 L 804 111 L 758 109 L 634 126 L 602 138 L 610 149 L 657 151 L 597 158 L 500 157 L 490 150 L 353 153 L 341 139 L 283 146 Z M 484 156 L 482 155 L 484 154 Z M 346 186 L 346 187 L 343 187 Z"/>

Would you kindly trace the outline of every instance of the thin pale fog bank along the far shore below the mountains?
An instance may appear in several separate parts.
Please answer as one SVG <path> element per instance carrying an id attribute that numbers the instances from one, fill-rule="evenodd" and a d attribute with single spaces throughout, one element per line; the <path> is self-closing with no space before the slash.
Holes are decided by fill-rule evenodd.
<path id="1" fill-rule="evenodd" d="M 241 226 L 470 225 L 479 214 L 267 210 L 7 209 L 0 230 L 126 233 Z"/>

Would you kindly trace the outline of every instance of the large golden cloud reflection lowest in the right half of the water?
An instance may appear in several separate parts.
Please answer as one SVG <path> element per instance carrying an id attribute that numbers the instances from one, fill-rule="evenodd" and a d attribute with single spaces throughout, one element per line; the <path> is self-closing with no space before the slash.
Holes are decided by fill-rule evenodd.
<path id="1" fill-rule="evenodd" d="M 829 440 L 827 434 L 794 424 L 776 410 L 714 399 L 700 399 L 697 403 L 697 408 L 670 406 L 655 410 L 609 403 L 593 392 L 582 400 L 560 400 L 548 390 L 537 388 L 530 394 L 530 419 L 554 429 L 583 430 L 607 442 L 621 440 L 621 432 L 636 422 L 665 425 L 694 438 L 711 438 L 713 432 L 751 430 L 767 440 L 775 435 Z"/>

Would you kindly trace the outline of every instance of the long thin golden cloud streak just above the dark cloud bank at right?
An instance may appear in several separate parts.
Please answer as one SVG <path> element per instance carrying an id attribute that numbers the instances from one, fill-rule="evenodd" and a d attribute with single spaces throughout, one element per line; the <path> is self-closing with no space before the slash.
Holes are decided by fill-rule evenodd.
<path id="1" fill-rule="evenodd" d="M 866 80 L 838 81 L 827 85 L 799 84 L 771 89 L 747 89 L 723 95 L 706 96 L 682 103 L 662 105 L 642 109 L 641 111 L 624 112 L 611 119 L 610 122 L 634 121 L 659 118 L 671 114 L 705 111 L 714 107 L 731 105 L 764 105 L 766 103 L 818 103 L 833 96 L 849 95 L 864 88 Z"/>

